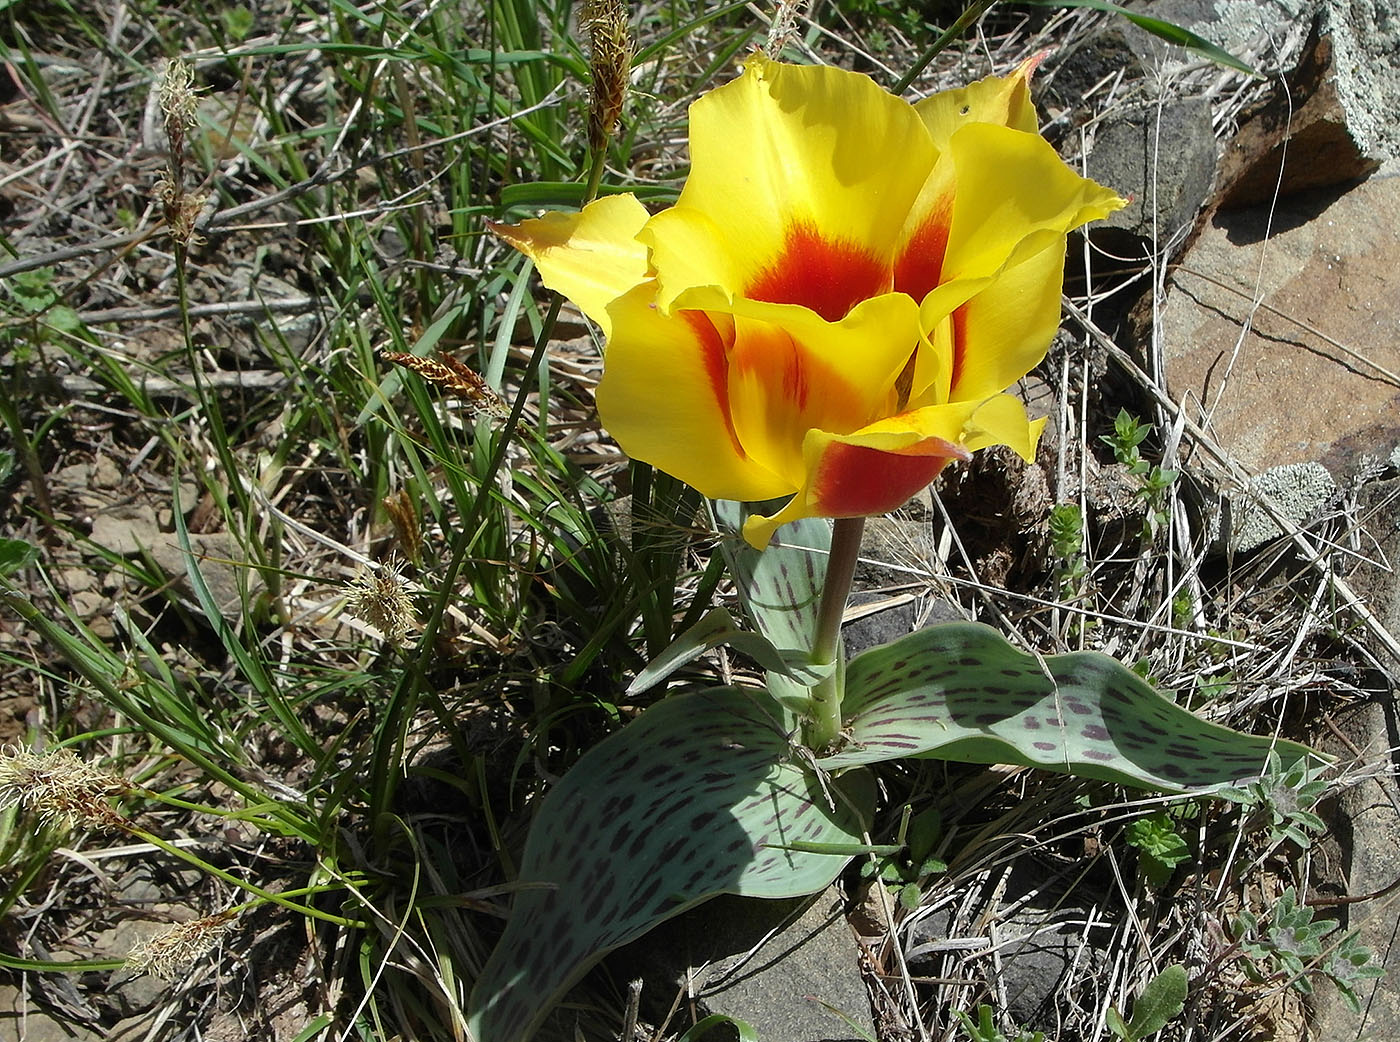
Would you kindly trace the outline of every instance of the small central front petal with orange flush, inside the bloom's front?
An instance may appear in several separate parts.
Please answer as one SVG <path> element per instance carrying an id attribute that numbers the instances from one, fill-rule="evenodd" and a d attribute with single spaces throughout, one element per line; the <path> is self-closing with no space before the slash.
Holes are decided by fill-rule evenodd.
<path id="1" fill-rule="evenodd" d="M 868 300 L 840 322 L 792 305 L 738 301 L 729 354 L 734 427 L 749 455 L 802 486 L 809 430 L 848 433 L 895 409 L 895 380 L 918 343 L 902 294 Z"/>

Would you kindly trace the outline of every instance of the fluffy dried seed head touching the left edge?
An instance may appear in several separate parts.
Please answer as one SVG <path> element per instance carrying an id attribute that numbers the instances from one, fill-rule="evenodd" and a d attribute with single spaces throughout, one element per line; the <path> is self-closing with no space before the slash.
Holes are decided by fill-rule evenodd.
<path id="1" fill-rule="evenodd" d="M 71 749 L 0 748 L 0 807 L 20 805 L 63 828 L 126 829 L 108 797 L 132 791 L 120 774 L 78 759 Z"/>

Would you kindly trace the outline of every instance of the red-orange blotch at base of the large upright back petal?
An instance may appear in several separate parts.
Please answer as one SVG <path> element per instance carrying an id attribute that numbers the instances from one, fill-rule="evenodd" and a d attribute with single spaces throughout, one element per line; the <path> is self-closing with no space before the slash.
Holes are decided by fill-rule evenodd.
<path id="1" fill-rule="evenodd" d="M 743 296 L 769 304 L 801 304 L 839 322 L 862 300 L 890 287 L 889 266 L 854 242 L 822 235 L 811 221 L 787 228 L 783 251 Z"/>

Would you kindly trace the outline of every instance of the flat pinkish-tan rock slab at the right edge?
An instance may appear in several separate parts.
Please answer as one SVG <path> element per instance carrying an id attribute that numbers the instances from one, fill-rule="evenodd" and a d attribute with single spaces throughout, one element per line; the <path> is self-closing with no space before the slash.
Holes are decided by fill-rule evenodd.
<path id="1" fill-rule="evenodd" d="M 1252 471 L 1343 476 L 1400 443 L 1397 175 L 1217 213 L 1170 280 L 1172 395 Z"/>

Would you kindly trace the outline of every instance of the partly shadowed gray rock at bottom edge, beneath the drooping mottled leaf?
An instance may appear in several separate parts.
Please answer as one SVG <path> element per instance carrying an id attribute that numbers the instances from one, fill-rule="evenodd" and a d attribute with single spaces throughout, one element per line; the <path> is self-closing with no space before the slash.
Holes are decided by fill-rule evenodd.
<path id="1" fill-rule="evenodd" d="M 717 898 L 627 945 L 609 965 L 643 978 L 643 1008 L 652 1018 L 664 1017 L 680 990 L 694 996 L 699 1017 L 746 1021 L 763 1042 L 874 1038 L 843 903 L 834 888 L 805 909 L 804 899 Z M 687 1025 L 673 1022 L 671 1031 Z"/>

